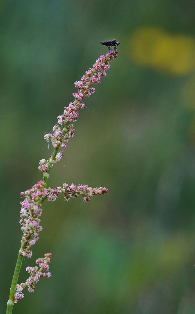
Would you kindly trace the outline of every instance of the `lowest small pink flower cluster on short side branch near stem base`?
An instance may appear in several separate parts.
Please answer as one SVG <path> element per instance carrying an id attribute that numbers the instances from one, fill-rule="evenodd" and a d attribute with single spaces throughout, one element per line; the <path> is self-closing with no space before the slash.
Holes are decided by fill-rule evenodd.
<path id="1" fill-rule="evenodd" d="M 39 267 L 30 267 L 26 268 L 26 271 L 30 274 L 26 282 L 16 285 L 16 292 L 14 297 L 14 302 L 17 303 L 18 299 L 24 298 L 24 294 L 21 293 L 25 287 L 28 287 L 29 292 L 33 292 L 35 289 L 35 284 L 39 281 L 40 277 L 51 277 L 49 270 L 49 263 L 51 260 L 51 253 L 46 253 L 45 257 L 38 258 L 36 264 L 39 264 Z"/>

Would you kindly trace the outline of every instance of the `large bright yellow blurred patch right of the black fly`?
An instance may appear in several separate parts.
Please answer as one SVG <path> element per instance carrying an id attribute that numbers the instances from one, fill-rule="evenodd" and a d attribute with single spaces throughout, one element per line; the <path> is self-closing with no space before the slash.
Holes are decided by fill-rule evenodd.
<path id="1" fill-rule="evenodd" d="M 158 28 L 136 30 L 130 41 L 133 60 L 163 72 L 183 75 L 195 67 L 195 40 L 170 35 Z"/>

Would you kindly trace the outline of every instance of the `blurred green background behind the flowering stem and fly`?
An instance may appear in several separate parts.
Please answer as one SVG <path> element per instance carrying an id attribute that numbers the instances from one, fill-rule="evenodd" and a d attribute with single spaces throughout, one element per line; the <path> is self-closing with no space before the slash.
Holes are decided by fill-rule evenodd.
<path id="1" fill-rule="evenodd" d="M 1 297 L 21 230 L 20 195 L 38 180 L 43 136 L 74 81 L 116 38 L 117 60 L 86 99 L 49 185 L 108 194 L 45 202 L 25 268 L 52 252 L 50 279 L 13 314 L 194 314 L 195 2 L 12 0 L 0 6 Z"/>

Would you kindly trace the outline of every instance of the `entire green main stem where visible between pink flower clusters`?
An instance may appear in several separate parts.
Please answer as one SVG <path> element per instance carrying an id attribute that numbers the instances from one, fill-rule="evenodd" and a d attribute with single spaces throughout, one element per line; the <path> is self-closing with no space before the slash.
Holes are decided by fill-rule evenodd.
<path id="1" fill-rule="evenodd" d="M 68 127 L 69 125 L 69 122 L 66 122 L 63 130 L 62 130 L 62 136 L 64 136 L 67 132 L 68 132 Z M 60 148 L 60 145 L 57 145 L 54 149 L 54 152 L 53 154 L 51 155 L 51 158 L 49 160 L 49 163 L 48 163 L 48 171 L 47 173 L 43 173 L 43 181 L 45 183 L 45 188 L 47 187 L 47 181 L 49 179 L 49 173 L 50 173 L 50 170 L 51 170 L 51 167 L 53 165 L 53 162 L 54 162 L 54 159 L 55 159 L 55 156 L 58 152 Z M 46 199 L 46 196 L 42 197 L 39 204 L 42 204 Z M 30 236 L 29 236 L 29 239 L 30 240 Z M 9 300 L 8 300 L 8 303 L 7 303 L 7 311 L 6 311 L 6 314 L 11 314 L 12 313 L 12 310 L 13 310 L 13 306 L 14 306 L 14 294 L 15 294 L 15 291 L 16 291 L 16 285 L 18 283 L 18 277 L 19 277 L 19 273 L 20 273 L 20 269 L 21 269 L 21 266 L 22 266 L 22 261 L 23 261 L 23 255 L 22 255 L 22 250 L 21 249 L 24 249 L 25 246 L 27 245 L 27 243 L 22 243 L 21 244 L 21 247 L 20 247 L 20 250 L 19 250 L 19 253 L 18 253 L 18 259 L 17 259 L 17 262 L 16 262 L 16 267 L 15 267 L 15 270 L 14 270 L 14 274 L 13 274 L 13 279 L 12 279 L 12 284 L 11 284 L 11 289 L 10 289 L 10 293 L 9 293 Z"/>

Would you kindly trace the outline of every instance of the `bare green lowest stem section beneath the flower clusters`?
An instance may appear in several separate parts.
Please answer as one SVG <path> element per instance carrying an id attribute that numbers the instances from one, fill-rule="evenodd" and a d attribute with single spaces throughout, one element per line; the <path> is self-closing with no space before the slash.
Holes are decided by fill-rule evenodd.
<path id="1" fill-rule="evenodd" d="M 11 314 L 12 310 L 13 310 L 13 306 L 14 306 L 13 298 L 14 298 L 14 294 L 15 294 L 15 291 L 16 291 L 16 285 L 17 285 L 17 282 L 18 282 L 20 268 L 22 266 L 22 261 L 23 261 L 23 257 L 24 257 L 22 255 L 22 250 L 21 249 L 24 249 L 25 246 L 26 246 L 26 243 L 22 243 L 21 247 L 20 247 L 20 250 L 19 250 L 19 253 L 18 253 L 18 259 L 17 259 L 17 262 L 16 262 L 16 267 L 15 267 L 15 270 L 14 270 L 14 274 L 13 274 L 11 289 L 10 289 L 10 293 L 9 293 L 9 300 L 8 300 L 8 303 L 7 303 L 6 314 Z"/>

